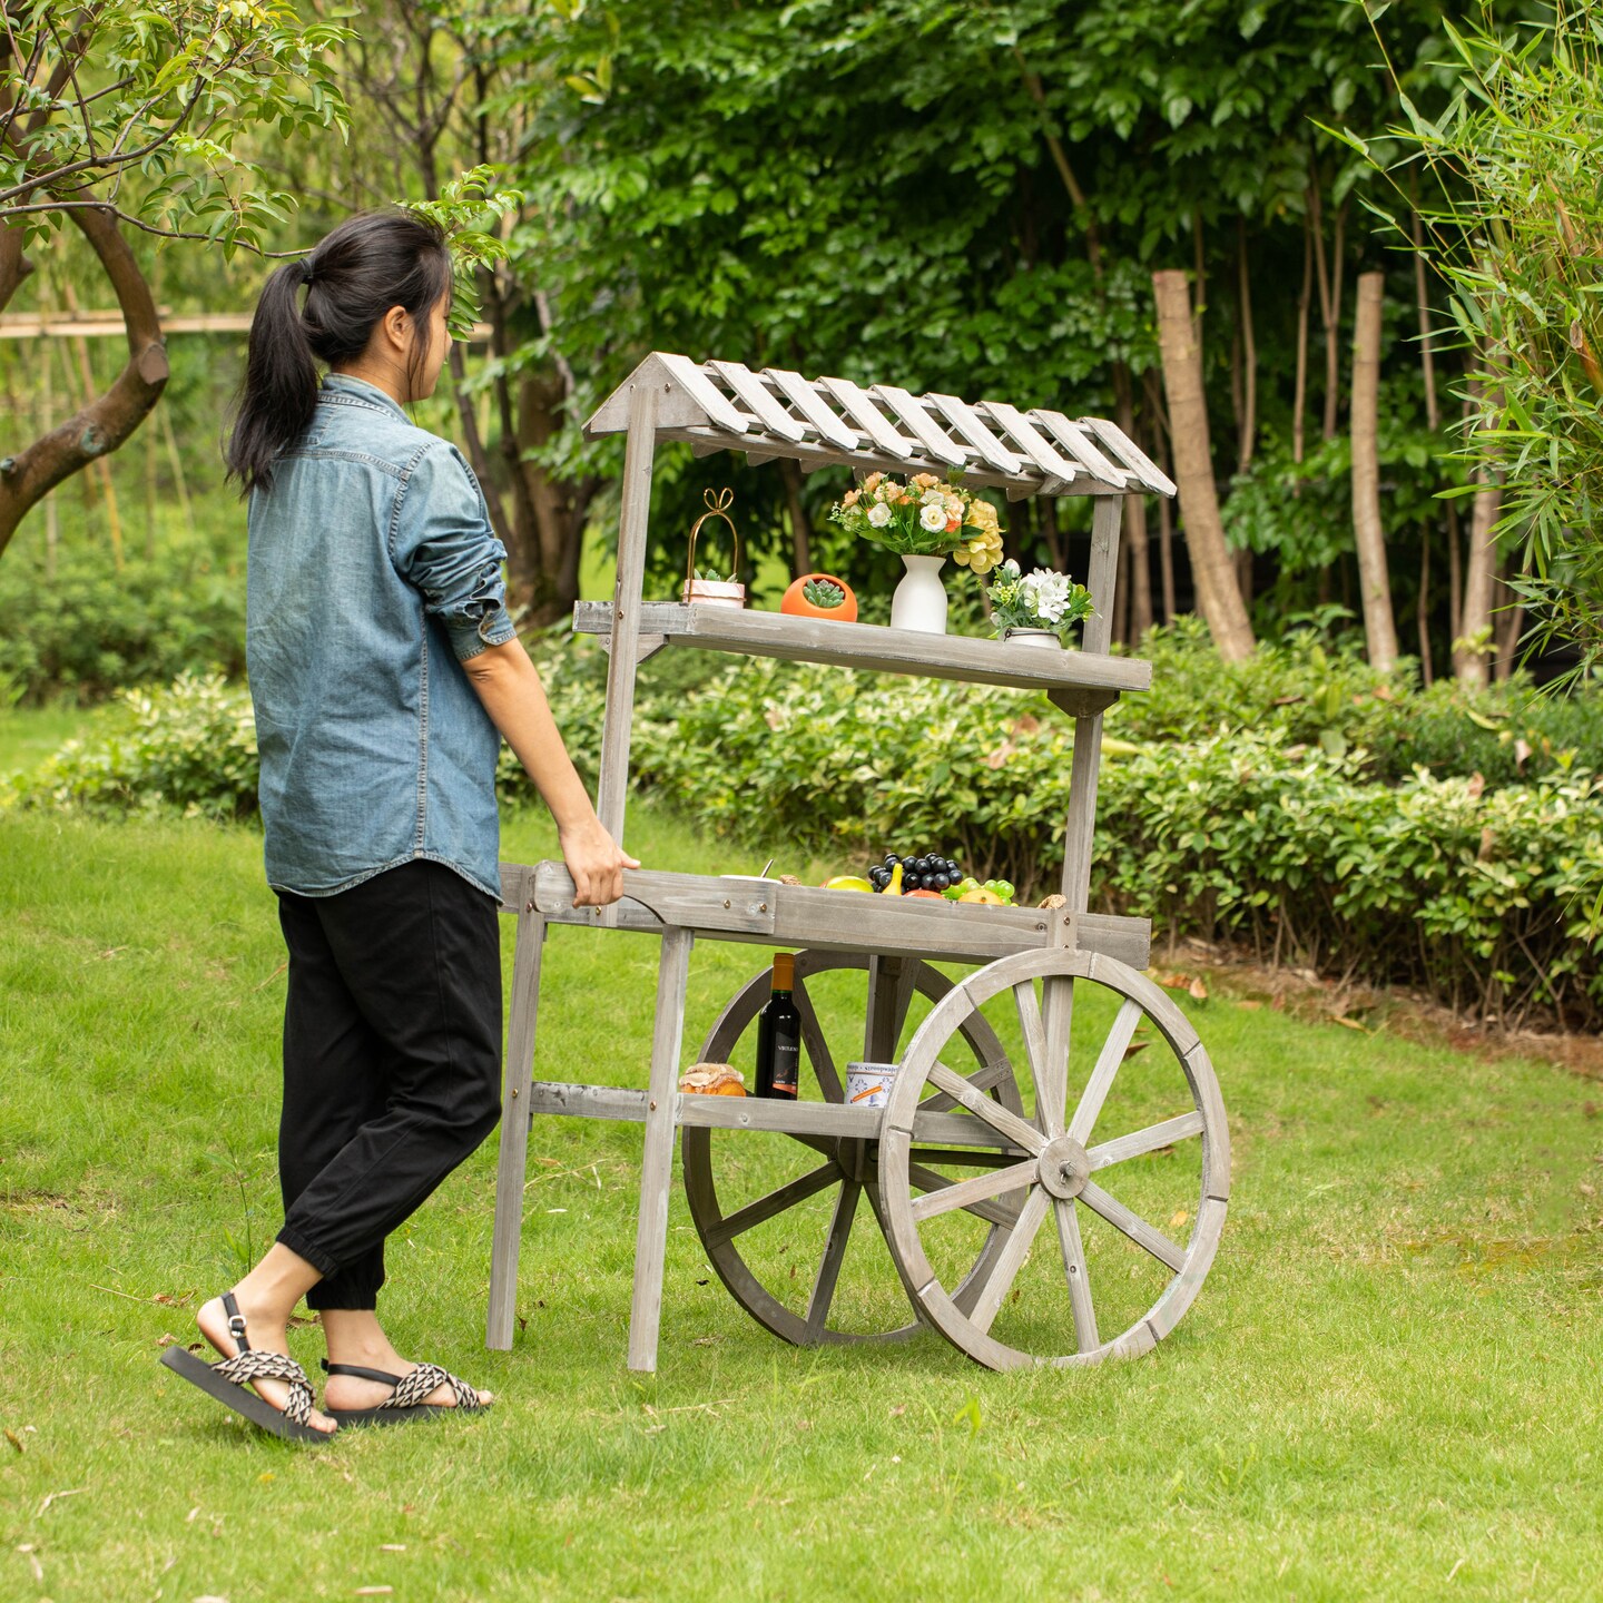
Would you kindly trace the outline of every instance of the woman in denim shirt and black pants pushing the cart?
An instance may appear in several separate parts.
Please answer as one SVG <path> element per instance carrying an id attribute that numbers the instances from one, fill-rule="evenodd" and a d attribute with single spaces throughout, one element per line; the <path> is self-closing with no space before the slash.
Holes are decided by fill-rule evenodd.
<path id="1" fill-rule="evenodd" d="M 402 410 L 434 390 L 449 303 L 439 229 L 343 223 L 268 281 L 228 447 L 250 499 L 247 665 L 289 947 L 285 1213 L 199 1311 L 223 1363 L 164 1363 L 303 1439 L 491 1401 L 404 1359 L 375 1306 L 385 1238 L 500 1112 L 502 737 L 556 819 L 575 906 L 616 901 L 640 866 L 596 819 L 507 616 L 478 481 Z M 329 1348 L 321 1412 L 289 1358 L 301 1297 Z"/>

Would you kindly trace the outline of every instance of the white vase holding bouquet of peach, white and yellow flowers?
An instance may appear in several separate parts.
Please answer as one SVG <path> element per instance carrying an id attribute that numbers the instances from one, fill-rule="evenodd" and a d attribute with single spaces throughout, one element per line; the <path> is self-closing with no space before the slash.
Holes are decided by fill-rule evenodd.
<path id="1" fill-rule="evenodd" d="M 941 563 L 955 555 L 971 572 L 987 574 L 1002 559 L 1002 529 L 991 502 L 933 473 L 915 473 L 906 483 L 870 473 L 829 516 L 902 559 L 907 575 L 891 601 L 891 628 L 944 635 Z"/>

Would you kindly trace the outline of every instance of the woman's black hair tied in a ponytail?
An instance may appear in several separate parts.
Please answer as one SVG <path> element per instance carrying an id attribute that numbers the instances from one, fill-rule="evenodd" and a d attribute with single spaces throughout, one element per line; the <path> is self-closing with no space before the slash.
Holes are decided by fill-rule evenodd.
<path id="1" fill-rule="evenodd" d="M 305 308 L 297 305 L 303 284 Z M 250 319 L 245 382 L 224 450 L 228 476 L 244 492 L 271 489 L 274 465 L 306 431 L 317 406 L 317 362 L 359 356 L 391 306 L 426 324 L 449 293 L 446 234 L 409 212 L 353 216 L 309 256 L 284 263 Z M 414 341 L 409 377 L 426 349 L 426 341 Z"/>

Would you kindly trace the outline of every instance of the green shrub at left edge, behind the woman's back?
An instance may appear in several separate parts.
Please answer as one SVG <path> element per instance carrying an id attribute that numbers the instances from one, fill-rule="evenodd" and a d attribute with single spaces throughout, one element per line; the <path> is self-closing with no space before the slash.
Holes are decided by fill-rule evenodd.
<path id="1" fill-rule="evenodd" d="M 0 561 L 0 683 L 24 702 L 104 701 L 186 672 L 245 672 L 244 572 L 199 535 L 154 559 L 130 555 L 120 574 L 75 545 L 63 545 L 55 579 L 24 553 Z"/>

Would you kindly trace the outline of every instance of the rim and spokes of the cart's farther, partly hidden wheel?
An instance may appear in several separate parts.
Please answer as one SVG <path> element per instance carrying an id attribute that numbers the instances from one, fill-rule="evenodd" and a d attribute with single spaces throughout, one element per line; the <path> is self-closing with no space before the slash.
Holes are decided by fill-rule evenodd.
<path id="1" fill-rule="evenodd" d="M 826 1101 L 843 1101 L 842 1082 L 845 1064 L 830 1050 L 818 1008 L 808 994 L 808 981 L 842 970 L 869 970 L 869 955 L 862 952 L 811 952 L 803 951 L 795 957 L 795 989 L 797 1008 L 802 1013 L 802 1050 L 813 1068 L 814 1080 Z M 915 994 L 939 1005 L 952 989 L 952 981 L 928 963 L 914 959 L 904 960 L 902 981 L 894 995 L 894 1028 L 898 1039 L 906 1028 L 906 1016 Z M 765 970 L 755 975 L 725 1005 L 717 1023 L 702 1042 L 701 1056 L 705 1061 L 728 1063 L 741 1037 L 755 1024 L 757 1013 L 768 999 L 769 976 Z M 1002 1050 L 1000 1040 L 991 1026 L 978 1015 L 959 1026 L 967 1050 L 973 1053 L 975 1068 L 963 1076 L 967 1085 L 986 1101 L 1010 1108 L 1018 1112 L 1023 1106 L 1013 1068 Z M 713 1138 L 720 1140 L 715 1141 Z M 729 1185 L 720 1188 L 720 1149 L 725 1145 L 744 1146 L 757 1140 L 750 1132 L 715 1132 L 686 1127 L 681 1132 L 681 1154 L 684 1162 L 684 1191 L 691 1205 L 691 1218 L 696 1223 L 707 1262 L 723 1281 L 729 1295 L 765 1329 L 785 1342 L 795 1345 L 821 1345 L 845 1342 L 898 1342 L 915 1335 L 922 1324 L 914 1319 L 890 1329 L 856 1330 L 845 1329 L 834 1322 L 838 1316 L 835 1308 L 835 1289 L 840 1271 L 846 1260 L 848 1241 L 856 1225 L 862 1223 L 867 1213 L 875 1223 L 874 1236 L 886 1233 L 885 1209 L 880 1199 L 880 1154 L 878 1141 L 869 1140 L 830 1140 L 826 1137 L 769 1137 L 773 1141 L 793 1141 L 798 1148 L 810 1149 L 814 1162 L 805 1172 L 795 1175 L 782 1185 L 771 1186 L 761 1194 L 747 1199 L 729 1196 Z M 909 1173 L 904 1183 L 919 1189 L 920 1183 L 943 1186 L 946 1180 L 927 1170 L 917 1153 L 909 1151 Z M 818 1246 L 818 1266 L 810 1273 L 806 1286 L 806 1306 L 798 1311 L 787 1306 L 782 1295 L 777 1295 L 771 1284 L 771 1270 L 755 1268 L 749 1254 L 742 1250 L 742 1238 L 747 1233 L 779 1218 L 789 1210 L 806 1204 L 829 1188 L 835 1188 L 835 1201 L 829 1218 L 829 1226 L 822 1242 Z M 989 1217 L 987 1217 L 989 1215 Z M 978 1247 L 970 1274 L 963 1281 L 987 1274 L 995 1254 L 1002 1250 L 1002 1223 L 1010 1215 L 1005 1210 L 987 1204 L 978 1204 L 976 1218 L 986 1223 L 983 1244 Z M 814 1249 L 811 1238 L 798 1241 L 798 1247 Z M 859 1247 L 861 1250 L 861 1247 Z M 875 1249 L 878 1250 L 878 1249 Z M 805 1260 L 803 1260 L 805 1262 Z M 800 1270 L 800 1262 L 792 1263 L 784 1282 L 790 1289 L 789 1274 Z M 886 1263 L 886 1279 L 894 1273 Z M 792 1292 L 792 1297 L 795 1292 Z"/>

